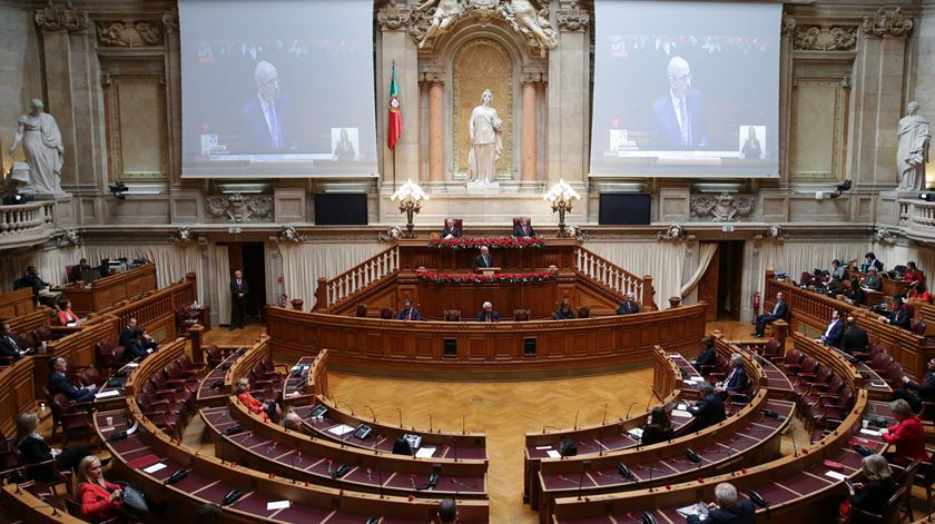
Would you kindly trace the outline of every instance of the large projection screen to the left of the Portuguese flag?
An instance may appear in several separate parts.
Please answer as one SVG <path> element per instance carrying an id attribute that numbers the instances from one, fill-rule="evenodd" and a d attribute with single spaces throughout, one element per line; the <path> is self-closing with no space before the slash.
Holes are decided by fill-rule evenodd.
<path id="1" fill-rule="evenodd" d="M 373 0 L 179 0 L 183 177 L 376 176 Z"/>

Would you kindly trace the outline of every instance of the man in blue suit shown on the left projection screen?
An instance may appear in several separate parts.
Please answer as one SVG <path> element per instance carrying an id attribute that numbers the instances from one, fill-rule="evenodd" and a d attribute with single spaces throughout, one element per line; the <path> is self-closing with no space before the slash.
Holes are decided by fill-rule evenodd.
<path id="1" fill-rule="evenodd" d="M 256 97 L 240 109 L 240 152 L 263 155 L 295 150 L 289 138 L 289 112 L 285 97 L 279 95 L 279 73 L 260 61 L 254 69 Z"/>

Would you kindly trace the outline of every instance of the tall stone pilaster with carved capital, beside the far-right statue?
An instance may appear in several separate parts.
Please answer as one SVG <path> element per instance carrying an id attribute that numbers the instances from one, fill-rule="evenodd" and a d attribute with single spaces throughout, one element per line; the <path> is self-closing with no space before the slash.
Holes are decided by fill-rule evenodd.
<path id="1" fill-rule="evenodd" d="M 860 26 L 848 172 L 863 189 L 893 189 L 898 181 L 896 127 L 903 115 L 903 68 L 912 28 L 899 8 L 889 13 L 880 8 Z"/>

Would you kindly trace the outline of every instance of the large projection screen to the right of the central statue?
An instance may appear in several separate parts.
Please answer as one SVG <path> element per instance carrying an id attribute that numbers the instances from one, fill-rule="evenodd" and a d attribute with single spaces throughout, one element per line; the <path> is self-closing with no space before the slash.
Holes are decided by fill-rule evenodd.
<path id="1" fill-rule="evenodd" d="M 778 176 L 780 3 L 594 9 L 591 176 Z"/>

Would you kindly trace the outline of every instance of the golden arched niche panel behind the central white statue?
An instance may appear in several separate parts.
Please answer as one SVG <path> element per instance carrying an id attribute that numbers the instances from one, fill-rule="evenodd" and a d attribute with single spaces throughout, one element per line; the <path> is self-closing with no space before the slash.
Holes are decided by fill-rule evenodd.
<path id="1" fill-rule="evenodd" d="M 513 177 L 513 60 L 506 49 L 490 39 L 465 43 L 454 56 L 454 95 L 452 116 L 452 159 L 455 178 L 468 177 L 468 152 L 471 137 L 468 130 L 471 111 L 481 103 L 481 93 L 490 89 L 491 107 L 503 120 L 503 150 L 496 165 L 496 178 Z"/>

